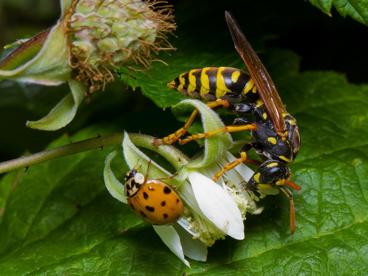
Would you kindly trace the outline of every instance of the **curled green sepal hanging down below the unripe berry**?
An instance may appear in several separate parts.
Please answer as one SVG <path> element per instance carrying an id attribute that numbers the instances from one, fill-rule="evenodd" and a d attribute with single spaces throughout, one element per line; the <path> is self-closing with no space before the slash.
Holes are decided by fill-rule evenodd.
<path id="1" fill-rule="evenodd" d="M 82 82 L 69 79 L 70 93 L 66 95 L 45 117 L 38 121 L 27 121 L 30 128 L 39 130 L 58 130 L 73 120 L 78 105 L 83 99 L 85 86 Z"/>

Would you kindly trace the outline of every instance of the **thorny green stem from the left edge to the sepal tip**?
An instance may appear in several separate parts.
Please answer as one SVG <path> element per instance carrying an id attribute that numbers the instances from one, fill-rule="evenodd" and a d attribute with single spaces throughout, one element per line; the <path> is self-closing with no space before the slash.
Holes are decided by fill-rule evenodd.
<path id="1" fill-rule="evenodd" d="M 99 136 L 95 138 L 78 141 L 75 143 L 70 143 L 65 146 L 49 149 L 48 151 L 43 151 L 28 156 L 22 156 L 17 159 L 0 163 L 0 174 L 20 169 L 23 167 L 29 167 L 35 164 L 39 164 L 42 162 L 46 162 L 52 159 L 75 154 L 82 151 L 104 148 L 105 146 L 117 146 L 117 145 L 120 146 L 121 142 L 123 141 L 123 138 L 124 138 L 123 133 L 109 134 L 105 136 Z"/>

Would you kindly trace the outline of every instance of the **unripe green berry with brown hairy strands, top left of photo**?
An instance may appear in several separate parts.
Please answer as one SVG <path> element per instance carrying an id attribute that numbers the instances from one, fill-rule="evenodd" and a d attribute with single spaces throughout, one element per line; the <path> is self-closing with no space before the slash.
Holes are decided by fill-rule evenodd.
<path id="1" fill-rule="evenodd" d="M 166 33 L 176 28 L 163 1 L 79 0 L 65 17 L 69 63 L 89 93 L 113 81 L 113 71 L 152 69 L 153 56 L 173 47 Z"/>

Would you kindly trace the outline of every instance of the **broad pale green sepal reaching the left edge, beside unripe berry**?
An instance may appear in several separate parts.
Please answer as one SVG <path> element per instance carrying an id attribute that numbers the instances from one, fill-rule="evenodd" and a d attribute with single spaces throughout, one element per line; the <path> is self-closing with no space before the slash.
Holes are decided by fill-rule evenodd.
<path id="1" fill-rule="evenodd" d="M 0 70 L 0 77 L 35 84 L 59 85 L 69 79 L 70 72 L 64 26 L 59 21 L 33 59 L 14 70 Z"/>

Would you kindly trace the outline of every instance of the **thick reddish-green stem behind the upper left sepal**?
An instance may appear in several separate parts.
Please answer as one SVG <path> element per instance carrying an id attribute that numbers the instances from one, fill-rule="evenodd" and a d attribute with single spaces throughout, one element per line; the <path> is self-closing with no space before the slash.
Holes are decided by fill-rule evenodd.
<path id="1" fill-rule="evenodd" d="M 38 35 L 22 43 L 17 49 L 11 52 L 0 62 L 0 70 L 13 70 L 21 66 L 26 61 L 32 59 L 41 50 L 43 43 L 49 35 L 52 28 L 40 32 Z M 0 81 L 1 81 L 0 77 Z"/>

